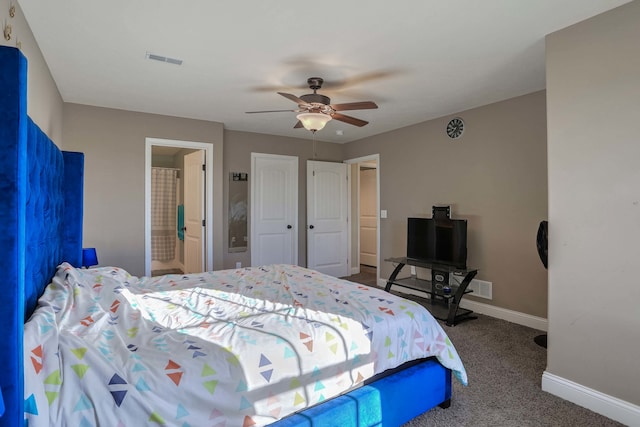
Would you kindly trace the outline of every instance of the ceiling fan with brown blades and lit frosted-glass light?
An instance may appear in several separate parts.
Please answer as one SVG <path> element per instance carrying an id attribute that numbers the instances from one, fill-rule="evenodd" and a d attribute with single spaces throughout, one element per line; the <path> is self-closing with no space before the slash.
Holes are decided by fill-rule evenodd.
<path id="1" fill-rule="evenodd" d="M 309 88 L 313 90 L 313 93 L 302 95 L 297 97 L 290 93 L 278 92 L 279 95 L 298 104 L 297 110 L 268 110 L 268 111 L 247 111 L 248 114 L 254 113 L 277 113 L 277 112 L 296 112 L 298 114 L 298 122 L 294 128 L 302 128 L 310 130 L 311 132 L 319 131 L 324 125 L 331 119 L 339 120 L 350 125 L 362 127 L 366 125 L 367 121 L 357 119 L 355 117 L 341 114 L 338 111 L 346 110 L 370 110 L 378 108 L 375 102 L 362 101 L 362 102 L 348 102 L 346 104 L 331 104 L 331 99 L 328 96 L 317 93 L 318 89 L 322 88 L 324 80 L 321 77 L 310 77 L 307 79 Z"/>

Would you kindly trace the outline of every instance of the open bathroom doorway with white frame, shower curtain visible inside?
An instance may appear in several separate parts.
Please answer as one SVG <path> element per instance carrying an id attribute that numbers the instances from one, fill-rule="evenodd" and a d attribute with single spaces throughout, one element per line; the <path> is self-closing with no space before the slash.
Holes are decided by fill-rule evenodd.
<path id="1" fill-rule="evenodd" d="M 210 171 L 206 170 L 206 165 L 213 164 L 212 151 L 211 144 L 147 138 L 145 155 L 145 274 L 147 276 L 195 273 L 213 268 L 211 245 L 213 241 L 213 227 L 211 227 L 213 173 L 207 173 Z M 188 161 L 194 156 L 202 159 L 196 168 Z M 198 183 L 197 186 L 194 185 L 194 181 Z M 154 190 L 159 191 L 154 192 Z M 191 208 L 186 209 L 187 205 Z M 156 208 L 155 213 L 154 208 Z"/>

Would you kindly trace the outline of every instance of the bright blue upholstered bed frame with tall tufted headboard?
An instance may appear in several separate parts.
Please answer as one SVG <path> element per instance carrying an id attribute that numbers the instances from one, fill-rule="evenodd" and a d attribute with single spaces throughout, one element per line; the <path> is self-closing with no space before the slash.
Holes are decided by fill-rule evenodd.
<path id="1" fill-rule="evenodd" d="M 0 46 L 0 427 L 23 427 L 24 321 L 63 261 L 82 261 L 82 153 L 61 152 L 27 117 L 27 61 Z M 284 418 L 276 427 L 399 426 L 451 398 L 435 360 Z"/>

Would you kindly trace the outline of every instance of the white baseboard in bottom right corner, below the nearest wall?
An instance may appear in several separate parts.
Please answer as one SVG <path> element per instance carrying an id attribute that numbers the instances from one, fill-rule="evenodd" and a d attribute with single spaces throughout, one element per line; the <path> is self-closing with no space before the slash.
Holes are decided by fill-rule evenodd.
<path id="1" fill-rule="evenodd" d="M 628 426 L 640 426 L 640 406 L 545 371 L 542 390 Z"/>

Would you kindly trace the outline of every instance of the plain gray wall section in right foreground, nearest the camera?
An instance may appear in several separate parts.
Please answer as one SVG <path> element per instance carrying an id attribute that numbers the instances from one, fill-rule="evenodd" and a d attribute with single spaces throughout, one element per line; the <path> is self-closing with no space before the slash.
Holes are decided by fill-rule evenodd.
<path id="1" fill-rule="evenodd" d="M 635 405 L 639 41 L 639 1 L 547 37 L 547 372 Z"/>

